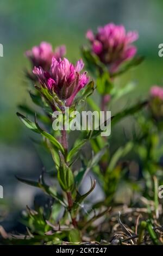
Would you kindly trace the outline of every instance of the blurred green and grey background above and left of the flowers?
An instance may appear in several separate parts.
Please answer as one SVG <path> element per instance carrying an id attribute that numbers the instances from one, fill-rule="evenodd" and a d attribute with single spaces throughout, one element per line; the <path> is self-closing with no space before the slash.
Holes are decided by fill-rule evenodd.
<path id="1" fill-rule="evenodd" d="M 163 43 L 162 10 L 162 0 L 1 1 L 0 185 L 4 199 L 0 199 L 0 224 L 7 231 L 18 230 L 20 210 L 30 206 L 39 193 L 17 182 L 15 175 L 37 179 L 42 168 L 52 168 L 51 159 L 42 157 L 45 153 L 37 150 L 30 131 L 16 117 L 18 104 L 31 103 L 24 76 L 30 65 L 24 52 L 41 41 L 49 41 L 53 47 L 66 44 L 66 56 L 74 62 L 80 57 L 80 46 L 87 44 L 87 29 L 96 31 L 97 26 L 114 22 L 136 30 L 140 35 L 136 46 L 145 62 L 117 81 L 122 86 L 129 81 L 136 83 L 134 93 L 125 98 L 132 103 L 133 94 L 134 100 L 140 99 L 153 84 L 163 85 L 163 59 L 158 57 L 158 45 Z"/>

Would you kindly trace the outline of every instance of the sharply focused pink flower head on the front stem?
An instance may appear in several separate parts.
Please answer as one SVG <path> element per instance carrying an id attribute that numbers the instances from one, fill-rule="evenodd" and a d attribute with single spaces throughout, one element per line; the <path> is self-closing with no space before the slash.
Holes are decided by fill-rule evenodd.
<path id="1" fill-rule="evenodd" d="M 83 67 L 82 59 L 74 66 L 66 58 L 57 60 L 53 57 L 49 71 L 43 70 L 41 66 L 35 66 L 33 73 L 39 78 L 42 86 L 54 91 L 61 100 L 65 100 L 67 106 L 70 106 L 79 90 L 89 81 L 86 72 L 80 74 Z"/>

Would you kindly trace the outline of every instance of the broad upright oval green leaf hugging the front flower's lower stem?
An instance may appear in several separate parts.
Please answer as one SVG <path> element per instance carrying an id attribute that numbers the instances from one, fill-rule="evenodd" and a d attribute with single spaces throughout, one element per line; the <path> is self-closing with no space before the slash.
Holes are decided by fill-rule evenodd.
<path id="1" fill-rule="evenodd" d="M 67 166 L 64 156 L 59 153 L 59 157 L 58 181 L 62 190 L 69 192 L 74 188 L 74 176 L 72 170 Z"/>

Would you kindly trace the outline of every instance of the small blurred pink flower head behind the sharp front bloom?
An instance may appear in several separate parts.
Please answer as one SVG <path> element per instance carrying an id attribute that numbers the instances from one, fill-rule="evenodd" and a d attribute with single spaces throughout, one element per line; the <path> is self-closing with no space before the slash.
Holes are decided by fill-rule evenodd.
<path id="1" fill-rule="evenodd" d="M 41 42 L 40 45 L 34 46 L 32 50 L 27 51 L 26 56 L 30 59 L 33 66 L 41 66 L 44 70 L 48 70 L 51 67 L 52 58 L 62 58 L 65 53 L 66 47 L 64 45 L 55 48 L 53 52 L 51 44 Z"/>

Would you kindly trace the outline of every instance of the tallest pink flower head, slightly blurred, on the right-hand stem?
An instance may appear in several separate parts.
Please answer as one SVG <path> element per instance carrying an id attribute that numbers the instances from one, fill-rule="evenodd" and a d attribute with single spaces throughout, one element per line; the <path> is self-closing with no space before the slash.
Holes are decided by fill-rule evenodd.
<path id="1" fill-rule="evenodd" d="M 89 30 L 86 38 L 91 43 L 92 52 L 101 62 L 110 66 L 111 72 L 114 72 L 124 60 L 133 58 L 137 51 L 132 45 L 138 38 L 137 32 L 126 32 L 122 25 L 109 23 L 99 27 L 95 35 Z"/>

